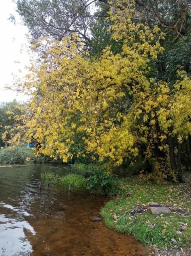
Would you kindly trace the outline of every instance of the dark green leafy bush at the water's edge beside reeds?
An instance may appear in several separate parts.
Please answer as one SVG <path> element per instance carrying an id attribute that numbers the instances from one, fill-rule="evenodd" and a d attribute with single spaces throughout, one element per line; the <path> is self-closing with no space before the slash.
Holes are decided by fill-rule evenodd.
<path id="1" fill-rule="evenodd" d="M 87 179 L 87 188 L 93 193 L 117 195 L 120 190 L 120 181 L 112 174 L 106 173 L 105 169 L 100 169 Z"/>

